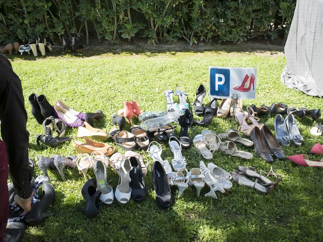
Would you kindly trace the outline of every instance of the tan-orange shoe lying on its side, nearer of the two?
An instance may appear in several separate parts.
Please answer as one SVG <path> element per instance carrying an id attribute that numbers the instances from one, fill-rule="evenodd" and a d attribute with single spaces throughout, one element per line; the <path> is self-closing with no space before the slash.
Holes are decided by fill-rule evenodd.
<path id="1" fill-rule="evenodd" d="M 83 139 L 86 142 L 77 141 L 77 139 Z M 77 153 L 91 154 L 93 151 L 101 151 L 104 155 L 109 156 L 115 152 L 115 148 L 111 145 L 95 142 L 85 137 L 76 137 L 72 145 Z"/>

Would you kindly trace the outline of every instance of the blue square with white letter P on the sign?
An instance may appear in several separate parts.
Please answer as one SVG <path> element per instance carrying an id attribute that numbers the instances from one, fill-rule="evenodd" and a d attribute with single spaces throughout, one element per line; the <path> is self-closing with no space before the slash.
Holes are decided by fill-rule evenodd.
<path id="1" fill-rule="evenodd" d="M 230 70 L 223 68 L 210 68 L 210 95 L 230 96 Z"/>

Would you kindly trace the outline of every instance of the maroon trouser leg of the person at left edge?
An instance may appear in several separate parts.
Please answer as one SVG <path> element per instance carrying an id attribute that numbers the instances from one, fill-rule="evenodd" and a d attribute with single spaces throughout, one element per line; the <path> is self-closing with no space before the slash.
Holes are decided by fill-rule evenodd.
<path id="1" fill-rule="evenodd" d="M 8 156 L 5 142 L 0 140 L 0 242 L 4 241 L 4 234 L 9 215 L 9 193 L 8 193 Z"/>

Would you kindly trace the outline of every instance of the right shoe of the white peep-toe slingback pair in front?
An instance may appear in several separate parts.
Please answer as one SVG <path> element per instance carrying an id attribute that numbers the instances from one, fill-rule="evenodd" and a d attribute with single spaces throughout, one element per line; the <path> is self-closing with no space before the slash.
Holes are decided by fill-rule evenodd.
<path id="1" fill-rule="evenodd" d="M 120 178 L 116 188 L 115 197 L 119 205 L 125 205 L 131 198 L 131 188 L 129 183 L 131 178 L 129 172 L 132 169 L 129 159 L 125 159 L 120 164 Z"/>

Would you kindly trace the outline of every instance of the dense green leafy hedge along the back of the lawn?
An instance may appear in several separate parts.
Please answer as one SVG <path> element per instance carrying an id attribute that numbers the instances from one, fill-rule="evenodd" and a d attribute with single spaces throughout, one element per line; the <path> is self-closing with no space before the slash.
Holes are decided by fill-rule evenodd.
<path id="1" fill-rule="evenodd" d="M 0 42 L 64 32 L 119 43 L 242 42 L 286 36 L 296 0 L 0 0 Z"/>

